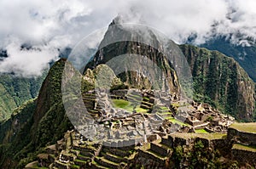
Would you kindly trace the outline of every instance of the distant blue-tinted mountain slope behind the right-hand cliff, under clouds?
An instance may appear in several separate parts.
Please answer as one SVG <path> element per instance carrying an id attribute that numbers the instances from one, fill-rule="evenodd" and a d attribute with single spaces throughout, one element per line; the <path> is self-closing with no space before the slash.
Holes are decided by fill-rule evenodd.
<path id="1" fill-rule="evenodd" d="M 256 82 L 256 44 L 248 39 L 250 46 L 232 44 L 230 38 L 214 37 L 208 42 L 201 44 L 203 48 L 218 50 L 230 56 L 247 71 L 247 74 Z"/>

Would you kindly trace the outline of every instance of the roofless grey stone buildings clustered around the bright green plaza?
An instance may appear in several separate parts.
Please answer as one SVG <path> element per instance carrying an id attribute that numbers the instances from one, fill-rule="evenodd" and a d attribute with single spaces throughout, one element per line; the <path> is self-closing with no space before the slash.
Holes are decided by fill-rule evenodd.
<path id="1" fill-rule="evenodd" d="M 209 104 L 178 100 L 170 93 L 147 90 L 107 90 L 97 89 L 84 93 L 84 104 L 88 113 L 94 117 L 94 124 L 84 124 L 77 129 L 91 139 L 105 140 L 135 139 L 144 142 L 151 134 L 160 136 L 172 132 L 195 132 L 205 129 L 207 132 L 227 132 L 235 119 L 223 115 Z M 145 112 L 132 112 L 114 108 L 111 99 L 123 99 L 139 106 Z M 173 106 L 178 104 L 178 108 Z M 163 109 L 165 108 L 165 109 Z M 168 121 L 181 121 L 183 124 Z M 111 145 L 111 144 L 109 144 Z"/>

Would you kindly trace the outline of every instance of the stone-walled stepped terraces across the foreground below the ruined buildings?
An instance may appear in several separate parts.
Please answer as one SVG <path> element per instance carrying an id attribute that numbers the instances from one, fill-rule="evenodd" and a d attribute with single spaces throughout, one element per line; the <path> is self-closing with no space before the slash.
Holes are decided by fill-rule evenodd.
<path id="1" fill-rule="evenodd" d="M 108 147 L 96 141 L 84 140 L 71 131 L 55 145 L 45 148 L 38 161 L 26 168 L 173 168 L 172 155 L 178 146 L 186 151 L 201 142 L 205 148 L 218 150 L 227 161 L 238 161 L 240 166 L 256 167 L 256 123 L 234 123 L 228 133 L 174 132 L 151 136 L 143 144 Z M 84 141 L 83 141 L 84 140 Z M 186 161 L 183 161 L 183 167 Z"/>

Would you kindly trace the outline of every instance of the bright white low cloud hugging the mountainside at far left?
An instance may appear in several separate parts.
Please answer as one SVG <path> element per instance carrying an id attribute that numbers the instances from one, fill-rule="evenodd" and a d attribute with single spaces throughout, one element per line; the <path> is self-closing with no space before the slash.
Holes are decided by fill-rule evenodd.
<path id="1" fill-rule="evenodd" d="M 16 76 L 40 76 L 57 58 L 56 51 L 47 46 L 20 50 L 20 43 L 12 42 L 6 49 L 9 57 L 0 62 L 0 72 L 15 72 Z"/>

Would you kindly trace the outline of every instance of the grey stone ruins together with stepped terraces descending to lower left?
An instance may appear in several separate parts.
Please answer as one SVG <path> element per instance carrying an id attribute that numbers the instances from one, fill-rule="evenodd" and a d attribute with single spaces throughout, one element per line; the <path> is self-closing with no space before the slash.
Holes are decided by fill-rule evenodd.
<path id="1" fill-rule="evenodd" d="M 111 99 L 134 102 L 146 111 L 115 108 Z M 82 125 L 77 126 L 75 131 L 67 132 L 57 144 L 47 147 L 45 154 L 38 155 L 38 162 L 28 164 L 26 168 L 35 164 L 65 169 L 71 166 L 127 168 L 134 162 L 143 163 L 146 168 L 165 168 L 173 146 L 189 146 L 193 140 L 195 142 L 195 139 L 184 136 L 196 134 L 197 129 L 226 133 L 235 121 L 209 104 L 182 100 L 157 91 L 135 89 L 108 93 L 106 90 L 94 90 L 83 93 L 83 100 L 94 121 L 83 123 L 81 118 Z M 173 138 L 175 133 L 185 135 Z M 201 139 L 209 146 L 215 143 Z M 221 143 L 218 145 L 227 146 L 223 138 L 217 139 L 218 142 Z M 216 143 L 214 146 L 217 146 Z M 233 152 L 237 155 L 236 150 Z"/>

